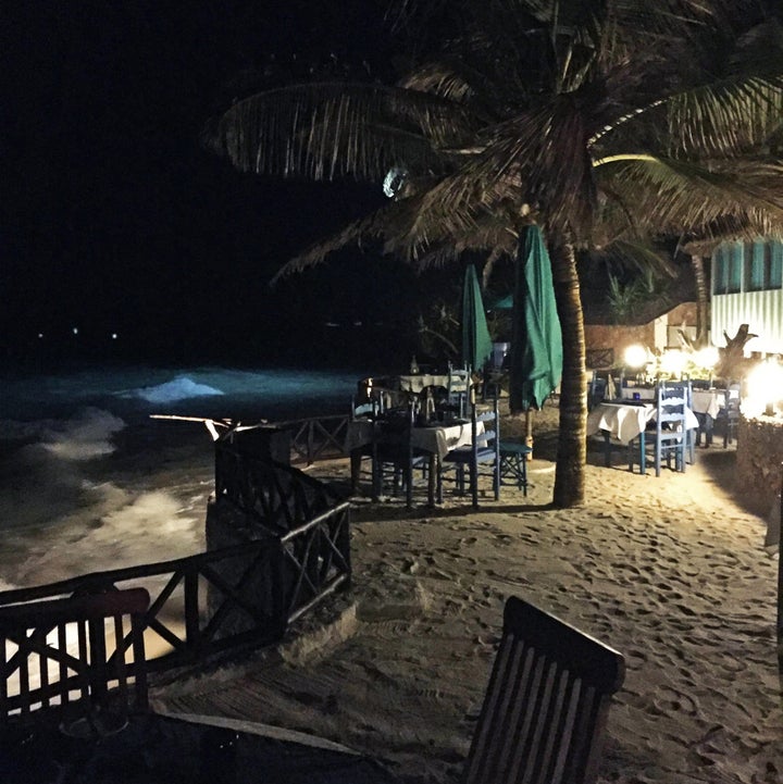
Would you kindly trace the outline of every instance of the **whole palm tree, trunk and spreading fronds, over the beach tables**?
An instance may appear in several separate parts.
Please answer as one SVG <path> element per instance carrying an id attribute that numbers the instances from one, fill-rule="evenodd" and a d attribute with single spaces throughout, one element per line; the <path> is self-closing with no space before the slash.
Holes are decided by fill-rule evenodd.
<path id="1" fill-rule="evenodd" d="M 411 24 L 417 5 L 399 5 Z M 457 34 L 398 85 L 260 94 L 232 107 L 211 138 L 247 171 L 394 174 L 385 208 L 286 272 L 366 236 L 420 265 L 467 249 L 487 251 L 492 265 L 514 258 L 526 225 L 542 227 L 563 334 L 554 502 L 571 507 L 584 499 L 586 462 L 579 251 L 721 236 L 771 224 L 783 207 L 769 144 L 781 129 L 783 35 L 759 8 L 452 2 Z"/>

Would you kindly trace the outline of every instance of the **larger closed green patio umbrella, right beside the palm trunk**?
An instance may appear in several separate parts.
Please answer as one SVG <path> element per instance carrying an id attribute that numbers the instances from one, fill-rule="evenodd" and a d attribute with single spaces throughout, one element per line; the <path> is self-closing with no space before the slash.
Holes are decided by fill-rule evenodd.
<path id="1" fill-rule="evenodd" d="M 562 376 L 551 265 L 537 226 L 527 228 L 519 250 L 513 303 L 509 403 L 511 411 L 530 412 L 544 406 Z"/>

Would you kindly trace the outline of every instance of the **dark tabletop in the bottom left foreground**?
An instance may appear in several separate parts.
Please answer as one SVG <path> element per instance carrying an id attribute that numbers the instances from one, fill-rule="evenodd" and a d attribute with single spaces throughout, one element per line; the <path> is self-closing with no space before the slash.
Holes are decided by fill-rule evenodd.
<path id="1" fill-rule="evenodd" d="M 9 784 L 395 784 L 378 760 L 304 733 L 221 717 L 137 713 L 105 735 L 0 729 Z"/>

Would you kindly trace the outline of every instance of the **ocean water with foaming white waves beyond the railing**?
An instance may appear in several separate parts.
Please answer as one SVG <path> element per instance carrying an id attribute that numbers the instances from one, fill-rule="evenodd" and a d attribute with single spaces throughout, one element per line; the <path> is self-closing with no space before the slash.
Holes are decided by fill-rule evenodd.
<path id="1" fill-rule="evenodd" d="M 203 549 L 199 421 L 347 412 L 361 372 L 83 366 L 0 378 L 0 589 Z"/>

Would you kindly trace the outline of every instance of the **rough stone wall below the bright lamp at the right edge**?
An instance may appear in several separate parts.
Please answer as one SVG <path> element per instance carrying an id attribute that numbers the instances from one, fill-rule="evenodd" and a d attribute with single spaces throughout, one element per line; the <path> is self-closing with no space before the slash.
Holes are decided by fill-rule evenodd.
<path id="1" fill-rule="evenodd" d="M 746 420 L 737 427 L 736 486 L 757 514 L 767 517 L 781 490 L 783 421 L 771 416 Z"/>

